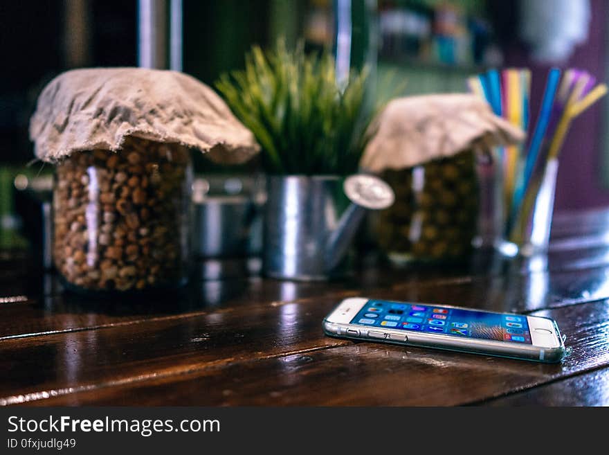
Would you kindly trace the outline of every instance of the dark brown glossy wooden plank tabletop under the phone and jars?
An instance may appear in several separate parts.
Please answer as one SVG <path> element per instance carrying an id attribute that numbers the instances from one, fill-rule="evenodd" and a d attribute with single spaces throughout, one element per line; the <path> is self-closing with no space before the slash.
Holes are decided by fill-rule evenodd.
<path id="1" fill-rule="evenodd" d="M 570 355 L 538 364 L 325 336 L 347 296 L 549 316 Z M 3 251 L 0 404 L 609 405 L 608 299 L 609 211 L 557 215 L 534 260 L 393 269 L 367 257 L 342 281 L 235 273 L 142 301 L 66 294 Z"/>

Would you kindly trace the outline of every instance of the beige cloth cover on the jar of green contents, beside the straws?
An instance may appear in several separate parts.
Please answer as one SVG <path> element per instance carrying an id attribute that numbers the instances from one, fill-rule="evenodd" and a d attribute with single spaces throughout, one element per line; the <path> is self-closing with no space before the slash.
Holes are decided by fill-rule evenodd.
<path id="1" fill-rule="evenodd" d="M 486 101 L 466 93 L 396 98 L 372 127 L 376 132 L 360 162 L 371 172 L 411 168 L 473 147 L 525 139 L 520 128 L 493 114 Z"/>

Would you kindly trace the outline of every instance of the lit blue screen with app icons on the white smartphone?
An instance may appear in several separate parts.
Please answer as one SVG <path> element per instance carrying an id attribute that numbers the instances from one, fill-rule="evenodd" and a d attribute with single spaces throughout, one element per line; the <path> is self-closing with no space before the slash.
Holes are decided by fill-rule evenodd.
<path id="1" fill-rule="evenodd" d="M 369 300 L 351 323 L 367 327 L 531 344 L 527 316 L 516 314 Z"/>

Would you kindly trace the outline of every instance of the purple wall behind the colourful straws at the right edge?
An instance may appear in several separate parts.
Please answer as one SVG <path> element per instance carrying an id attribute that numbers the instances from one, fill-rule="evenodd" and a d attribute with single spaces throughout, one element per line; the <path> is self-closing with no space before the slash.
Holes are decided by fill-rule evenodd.
<path id="1" fill-rule="evenodd" d="M 606 81 L 606 36 L 609 2 L 591 0 L 592 21 L 588 42 L 578 46 L 568 62 L 559 66 L 590 71 L 600 82 Z M 531 116 L 537 117 L 549 66 L 532 64 L 520 45 L 507 49 L 505 66 L 531 68 Z M 609 188 L 603 186 L 603 103 L 585 111 L 572 124 L 561 152 L 556 187 L 556 210 L 609 206 Z"/>

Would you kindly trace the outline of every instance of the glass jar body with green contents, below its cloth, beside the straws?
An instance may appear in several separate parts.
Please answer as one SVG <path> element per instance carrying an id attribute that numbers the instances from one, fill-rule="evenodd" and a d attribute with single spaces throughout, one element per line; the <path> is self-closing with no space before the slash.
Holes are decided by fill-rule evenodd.
<path id="1" fill-rule="evenodd" d="M 473 152 L 383 177 L 395 202 L 379 213 L 377 234 L 393 262 L 460 260 L 471 253 L 479 198 Z"/>

